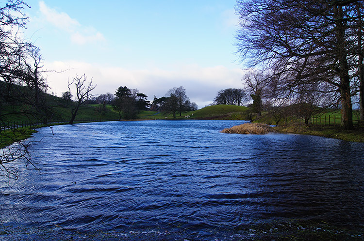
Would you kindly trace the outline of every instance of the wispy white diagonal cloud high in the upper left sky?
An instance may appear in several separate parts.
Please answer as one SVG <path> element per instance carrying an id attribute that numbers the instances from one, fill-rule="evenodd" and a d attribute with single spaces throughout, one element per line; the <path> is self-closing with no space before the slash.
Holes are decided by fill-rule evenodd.
<path id="1" fill-rule="evenodd" d="M 70 39 L 75 44 L 84 45 L 86 43 L 105 41 L 102 33 L 95 28 L 83 26 L 68 14 L 48 7 L 44 1 L 39 2 L 39 10 L 42 14 L 41 17 L 44 17 L 46 22 L 70 34 Z"/>

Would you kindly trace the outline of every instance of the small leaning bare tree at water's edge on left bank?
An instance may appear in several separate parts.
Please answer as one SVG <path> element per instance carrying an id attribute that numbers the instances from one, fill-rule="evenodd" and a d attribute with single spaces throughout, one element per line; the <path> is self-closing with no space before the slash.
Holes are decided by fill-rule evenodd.
<path id="1" fill-rule="evenodd" d="M 71 109 L 71 120 L 69 120 L 69 124 L 73 124 L 73 121 L 76 118 L 77 112 L 81 105 L 84 105 L 84 103 L 89 100 L 93 95 L 91 94 L 91 91 L 95 89 L 96 85 L 92 85 L 92 79 L 89 82 L 87 81 L 87 77 L 85 74 L 72 78 L 72 81 L 69 82 L 68 80 L 68 90 L 71 92 L 71 85 L 74 84 L 76 87 L 76 102 L 74 106 Z"/>

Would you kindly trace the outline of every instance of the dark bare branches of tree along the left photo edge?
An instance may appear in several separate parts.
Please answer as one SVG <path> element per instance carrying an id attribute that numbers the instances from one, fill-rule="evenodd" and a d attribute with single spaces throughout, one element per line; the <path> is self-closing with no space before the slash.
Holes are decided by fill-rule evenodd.
<path id="1" fill-rule="evenodd" d="M 31 74 L 27 70 L 28 61 L 35 60 L 41 66 L 36 55 L 32 55 L 33 45 L 20 37 L 19 30 L 25 28 L 28 17 L 22 13 L 29 7 L 21 0 L 8 0 L 0 6 L 0 125 L 3 129 L 0 135 L 0 177 L 7 182 L 17 179 L 18 169 L 12 162 L 22 161 L 25 166 L 33 166 L 31 154 L 28 150 L 29 143 L 19 141 L 16 136 L 23 135 L 21 129 L 16 129 L 7 122 L 10 114 L 24 115 L 37 114 L 34 112 L 40 102 L 36 102 L 41 88 L 38 85 L 34 91 L 34 84 L 45 84 L 40 74 Z M 33 66 L 32 66 L 33 69 Z M 38 77 L 29 85 L 28 77 Z M 38 81 L 40 80 L 40 81 Z M 46 84 L 45 84 L 46 86 Z M 39 99 L 38 99 L 39 100 Z M 7 112 L 3 108 L 7 108 Z M 12 108 L 9 110 L 9 108 Z M 32 110 L 33 109 L 33 110 Z M 4 143 L 13 143 L 5 146 Z M 5 147 L 4 147 L 5 146 Z"/>

